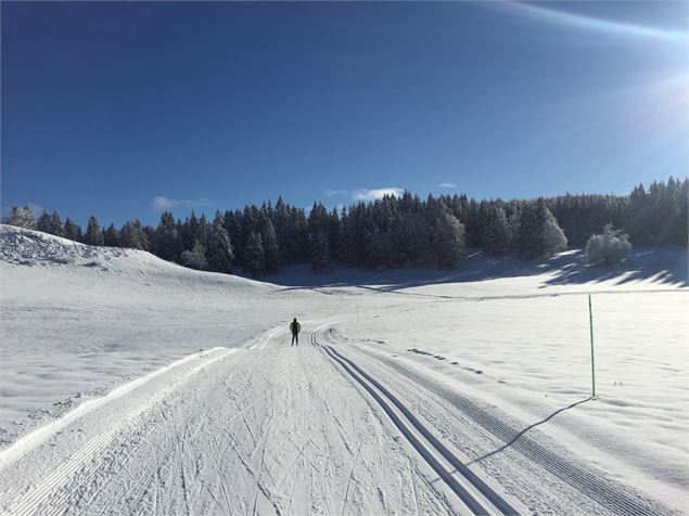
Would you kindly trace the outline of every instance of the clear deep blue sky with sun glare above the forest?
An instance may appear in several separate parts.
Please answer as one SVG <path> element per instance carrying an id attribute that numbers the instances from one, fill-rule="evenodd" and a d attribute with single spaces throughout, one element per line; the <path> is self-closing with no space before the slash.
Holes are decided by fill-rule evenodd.
<path id="1" fill-rule="evenodd" d="M 685 2 L 1 9 L 3 212 L 120 224 L 687 173 Z"/>

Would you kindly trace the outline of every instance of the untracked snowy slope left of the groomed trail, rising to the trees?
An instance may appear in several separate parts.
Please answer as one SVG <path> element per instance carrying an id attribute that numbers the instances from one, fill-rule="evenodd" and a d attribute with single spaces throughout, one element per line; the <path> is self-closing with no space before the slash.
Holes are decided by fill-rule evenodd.
<path id="1" fill-rule="evenodd" d="M 0 446 L 177 357 L 244 346 L 273 320 L 292 315 L 258 313 L 257 305 L 299 298 L 142 250 L 4 224 L 0 282 Z"/>

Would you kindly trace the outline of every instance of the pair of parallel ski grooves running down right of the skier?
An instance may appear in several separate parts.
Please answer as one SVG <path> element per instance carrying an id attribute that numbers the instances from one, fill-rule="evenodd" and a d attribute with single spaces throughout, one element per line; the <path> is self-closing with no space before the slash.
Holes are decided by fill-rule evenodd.
<path id="1" fill-rule="evenodd" d="M 320 328 L 319 328 L 320 330 Z M 382 398 L 387 398 L 407 418 L 409 424 L 413 426 L 426 441 L 439 453 L 449 464 L 451 464 L 456 470 L 462 475 L 462 477 L 470 482 L 483 496 L 493 504 L 492 509 L 497 509 L 500 514 L 513 515 L 519 512 L 510 505 L 510 503 L 500 496 L 493 488 L 479 478 L 471 469 L 469 469 L 459 459 L 457 459 L 425 426 L 385 387 L 379 382 L 374 380 L 365 373 L 353 361 L 344 358 L 337 353 L 330 346 L 321 346 L 317 340 L 316 330 L 311 333 L 310 340 L 314 346 L 321 348 L 330 358 L 337 362 L 342 369 L 353 377 L 358 384 L 360 384 L 377 401 L 377 403 L 388 415 L 391 421 L 395 424 L 397 429 L 405 436 L 409 443 L 417 450 L 417 452 L 423 457 L 423 460 L 433 468 L 435 473 L 445 481 L 445 483 L 452 490 L 455 494 L 467 505 L 467 507 L 475 515 L 490 514 L 475 496 L 467 490 L 450 472 L 445 469 L 443 465 L 429 452 L 428 448 L 417 439 L 408 425 L 403 422 L 397 414 L 391 409 L 387 402 Z M 358 373 L 358 374 L 357 374 Z M 382 395 L 382 396 L 381 396 Z"/>

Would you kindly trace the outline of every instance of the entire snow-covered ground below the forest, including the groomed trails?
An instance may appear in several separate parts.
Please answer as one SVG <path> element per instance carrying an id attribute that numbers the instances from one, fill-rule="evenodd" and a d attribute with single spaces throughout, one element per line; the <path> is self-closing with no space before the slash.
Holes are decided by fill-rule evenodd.
<path id="1" fill-rule="evenodd" d="M 268 280 L 0 227 L 0 512 L 689 513 L 686 249 Z"/>

